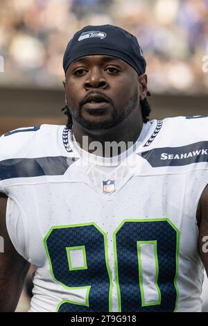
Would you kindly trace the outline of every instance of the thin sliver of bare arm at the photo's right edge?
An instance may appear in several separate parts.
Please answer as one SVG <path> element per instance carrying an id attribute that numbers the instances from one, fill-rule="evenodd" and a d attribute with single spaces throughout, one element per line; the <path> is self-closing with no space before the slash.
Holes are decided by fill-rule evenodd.
<path id="1" fill-rule="evenodd" d="M 198 248 L 208 277 L 208 186 L 200 198 L 197 218 L 199 225 Z"/>

